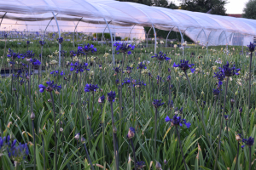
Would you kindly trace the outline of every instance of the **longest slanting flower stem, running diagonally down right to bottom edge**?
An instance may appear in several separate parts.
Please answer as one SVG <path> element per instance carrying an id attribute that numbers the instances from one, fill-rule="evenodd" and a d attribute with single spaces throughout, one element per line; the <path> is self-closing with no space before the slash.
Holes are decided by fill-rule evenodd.
<path id="1" fill-rule="evenodd" d="M 185 76 L 186 76 L 186 78 L 187 78 L 187 80 L 188 80 L 188 82 L 189 82 L 189 88 L 190 88 L 190 90 L 191 90 L 191 92 L 192 92 L 192 94 L 193 94 L 193 98 L 194 98 L 194 100 L 195 100 L 195 105 L 196 105 L 196 107 L 197 107 L 197 111 L 199 112 L 199 116 L 200 116 L 200 119 L 201 119 L 201 122 L 202 122 L 202 125 L 203 125 L 204 132 L 206 133 L 207 141 L 208 141 L 208 143 L 209 143 L 209 145 L 210 145 L 210 149 L 211 149 L 211 151 L 212 151 L 212 155 L 213 155 L 214 159 L 217 161 L 217 159 L 216 159 L 217 157 L 216 157 L 215 152 L 214 152 L 214 150 L 213 150 L 213 148 L 212 148 L 212 142 L 211 142 L 211 140 L 210 140 L 210 138 L 209 138 L 209 135 L 208 135 L 208 133 L 207 133 L 206 124 L 205 124 L 205 122 L 203 122 L 203 120 L 202 120 L 201 111 L 200 111 L 199 106 L 198 106 L 198 104 L 197 104 L 197 101 L 196 101 L 196 98 L 195 98 L 195 94 L 194 94 L 193 88 L 192 88 L 191 83 L 190 83 L 190 81 L 189 81 L 188 74 L 187 74 L 186 71 L 184 71 L 184 72 L 185 72 Z M 218 168 L 221 169 L 221 167 L 220 167 L 219 164 L 218 164 Z"/>

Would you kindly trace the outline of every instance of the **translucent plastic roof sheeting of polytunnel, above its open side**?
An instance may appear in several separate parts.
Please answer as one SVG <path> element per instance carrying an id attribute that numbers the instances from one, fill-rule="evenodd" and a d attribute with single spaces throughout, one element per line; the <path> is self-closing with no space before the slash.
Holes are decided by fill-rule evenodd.
<path id="1" fill-rule="evenodd" d="M 0 17 L 5 15 L 3 20 L 24 20 L 26 27 L 30 25 L 36 27 L 34 22 L 51 20 L 52 12 L 56 14 L 58 21 L 71 22 L 72 24 L 67 24 L 68 28 L 76 25 L 79 20 L 79 23 L 99 25 L 108 22 L 113 25 L 111 26 L 113 31 L 115 26 L 134 25 L 154 26 L 166 31 L 174 28 L 174 31 L 185 31 L 184 34 L 194 41 L 198 38 L 201 42 L 208 41 L 209 45 L 226 44 L 226 38 L 224 38 L 226 35 L 230 45 L 245 44 L 247 41 L 242 41 L 244 37 L 252 40 L 253 35 L 256 35 L 255 20 L 149 7 L 138 3 L 113 0 L 9 0 L 0 2 Z M 19 25 L 16 24 L 16 26 Z M 40 29 L 44 29 L 43 27 Z M 234 33 L 243 35 L 240 39 L 242 42 L 237 42 L 239 38 Z M 204 37 L 207 37 L 207 40 L 204 40 Z M 233 39 L 236 39 L 236 42 Z"/>

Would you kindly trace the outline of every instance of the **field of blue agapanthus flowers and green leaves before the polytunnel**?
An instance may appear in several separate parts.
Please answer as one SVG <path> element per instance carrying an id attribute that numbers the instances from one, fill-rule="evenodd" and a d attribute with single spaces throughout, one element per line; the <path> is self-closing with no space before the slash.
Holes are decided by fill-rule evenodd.
<path id="1" fill-rule="evenodd" d="M 113 46 L 0 42 L 2 169 L 256 168 L 253 44 Z"/>

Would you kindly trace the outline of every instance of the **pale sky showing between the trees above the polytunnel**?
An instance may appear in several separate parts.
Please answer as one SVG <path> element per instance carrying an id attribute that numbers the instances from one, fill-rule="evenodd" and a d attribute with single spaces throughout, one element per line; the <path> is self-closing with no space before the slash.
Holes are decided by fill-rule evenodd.
<path id="1" fill-rule="evenodd" d="M 177 5 L 181 2 L 179 0 L 169 0 L 169 2 L 171 1 Z M 248 1 L 249 0 L 228 0 L 230 3 L 225 5 L 227 14 L 242 14 L 242 9 L 245 8 L 245 5 Z"/>

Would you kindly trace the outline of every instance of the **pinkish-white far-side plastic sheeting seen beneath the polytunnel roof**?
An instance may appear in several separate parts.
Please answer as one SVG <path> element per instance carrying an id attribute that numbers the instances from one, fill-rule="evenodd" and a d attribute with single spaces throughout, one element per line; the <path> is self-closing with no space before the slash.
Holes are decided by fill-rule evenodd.
<path id="1" fill-rule="evenodd" d="M 58 15 L 57 15 L 58 16 Z M 81 19 L 81 18 L 80 18 Z M 92 33 L 110 33 L 106 24 L 91 24 L 78 20 L 66 21 L 62 20 L 61 17 L 57 17 L 58 24 L 60 26 L 61 32 L 84 32 L 85 34 Z M 79 23 L 78 23 L 79 22 Z M 77 28 L 75 29 L 75 26 Z M 136 37 L 137 39 L 145 39 L 145 31 L 143 26 L 113 26 L 109 25 L 112 33 L 115 37 L 129 37 L 132 39 Z M 46 30 L 45 30 L 46 29 Z M 38 31 L 42 35 L 44 31 L 46 32 L 57 32 L 58 28 L 56 26 L 55 20 L 39 20 L 39 21 L 22 21 L 22 20 L 3 20 L 0 31 Z M 131 32 L 131 33 L 130 33 Z M 67 39 L 73 39 L 72 37 L 67 37 Z"/>

